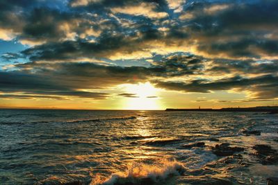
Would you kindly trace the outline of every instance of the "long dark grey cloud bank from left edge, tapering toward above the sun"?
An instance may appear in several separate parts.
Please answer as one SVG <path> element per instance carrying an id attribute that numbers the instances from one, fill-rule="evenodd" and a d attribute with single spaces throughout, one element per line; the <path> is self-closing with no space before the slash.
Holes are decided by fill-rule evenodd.
<path id="1" fill-rule="evenodd" d="M 145 70 L 145 67 L 106 67 L 92 63 L 46 66 L 33 63 L 17 67 L 23 70 L 0 72 L 1 92 L 103 99 L 109 94 L 99 90 L 111 85 L 147 80 L 147 76 L 156 72 L 155 69 Z"/>

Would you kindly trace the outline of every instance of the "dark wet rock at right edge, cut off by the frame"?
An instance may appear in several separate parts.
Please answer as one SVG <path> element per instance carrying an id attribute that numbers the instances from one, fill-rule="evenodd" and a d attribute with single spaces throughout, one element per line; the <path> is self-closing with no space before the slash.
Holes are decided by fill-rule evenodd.
<path id="1" fill-rule="evenodd" d="M 276 164 L 278 162 L 278 152 L 266 145 L 255 145 L 253 149 L 256 150 L 254 155 L 259 158 L 263 165 Z"/>

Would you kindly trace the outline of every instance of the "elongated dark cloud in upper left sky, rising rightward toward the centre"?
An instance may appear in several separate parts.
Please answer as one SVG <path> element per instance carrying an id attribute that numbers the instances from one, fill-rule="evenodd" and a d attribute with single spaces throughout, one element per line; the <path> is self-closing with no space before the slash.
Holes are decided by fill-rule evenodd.
<path id="1" fill-rule="evenodd" d="M 26 49 L 22 51 L 22 54 L 33 61 L 67 60 L 80 57 L 108 58 L 115 53 L 121 53 L 124 56 L 136 51 L 145 51 L 149 47 L 146 45 L 147 42 L 159 39 L 161 42 L 167 42 L 162 33 L 156 29 L 140 30 L 138 33 L 140 33 L 139 37 L 133 34 L 116 33 L 111 35 L 110 32 L 104 32 L 95 42 L 88 42 L 85 39 L 49 42 Z"/>

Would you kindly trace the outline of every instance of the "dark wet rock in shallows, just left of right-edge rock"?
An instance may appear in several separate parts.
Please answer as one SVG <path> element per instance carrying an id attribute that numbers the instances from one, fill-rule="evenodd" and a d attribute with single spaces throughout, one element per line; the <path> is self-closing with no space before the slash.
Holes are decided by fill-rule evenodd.
<path id="1" fill-rule="evenodd" d="M 236 152 L 242 152 L 244 148 L 241 147 L 230 147 L 229 143 L 221 143 L 213 148 L 213 153 L 217 156 L 229 156 L 234 155 Z"/>

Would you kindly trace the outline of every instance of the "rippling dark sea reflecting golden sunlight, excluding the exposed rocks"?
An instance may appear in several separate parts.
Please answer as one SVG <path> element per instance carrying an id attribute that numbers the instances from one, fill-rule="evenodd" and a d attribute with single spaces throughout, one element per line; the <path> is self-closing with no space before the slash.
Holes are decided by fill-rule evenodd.
<path id="1" fill-rule="evenodd" d="M 254 112 L 1 109 L 0 184 L 266 184 L 278 166 L 252 147 L 278 150 L 277 131 Z M 245 150 L 218 157 L 220 143 Z"/>

